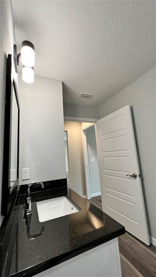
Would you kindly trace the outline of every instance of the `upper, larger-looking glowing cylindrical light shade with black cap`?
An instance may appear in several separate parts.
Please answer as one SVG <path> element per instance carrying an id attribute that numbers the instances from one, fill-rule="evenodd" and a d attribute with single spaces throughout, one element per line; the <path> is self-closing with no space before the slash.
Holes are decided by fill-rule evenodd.
<path id="1" fill-rule="evenodd" d="M 35 48 L 34 45 L 28 41 L 24 40 L 22 42 L 21 48 L 21 62 L 24 66 L 33 67 L 35 64 Z"/>

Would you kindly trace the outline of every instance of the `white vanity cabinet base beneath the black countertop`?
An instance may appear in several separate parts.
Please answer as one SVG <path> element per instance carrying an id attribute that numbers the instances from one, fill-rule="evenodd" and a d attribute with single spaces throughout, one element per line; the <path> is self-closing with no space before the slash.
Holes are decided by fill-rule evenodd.
<path id="1" fill-rule="evenodd" d="M 34 277 L 122 277 L 118 238 L 105 242 Z"/>

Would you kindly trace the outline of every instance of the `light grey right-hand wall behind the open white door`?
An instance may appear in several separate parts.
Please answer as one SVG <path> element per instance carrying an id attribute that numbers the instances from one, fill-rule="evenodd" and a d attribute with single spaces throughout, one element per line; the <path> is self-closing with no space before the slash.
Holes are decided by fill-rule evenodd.
<path id="1" fill-rule="evenodd" d="M 99 107 L 99 118 L 130 105 L 149 234 L 156 239 L 155 95 L 156 67 Z M 145 138 L 145 139 L 144 139 Z"/>

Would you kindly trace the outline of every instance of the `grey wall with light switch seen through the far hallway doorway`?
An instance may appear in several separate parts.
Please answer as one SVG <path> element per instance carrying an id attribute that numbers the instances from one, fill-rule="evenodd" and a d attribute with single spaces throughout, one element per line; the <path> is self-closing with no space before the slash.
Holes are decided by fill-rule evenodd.
<path id="1" fill-rule="evenodd" d="M 96 138 L 95 138 L 95 127 L 92 127 L 86 130 L 86 139 L 87 139 L 87 152 L 88 152 L 88 166 L 89 166 L 89 177 L 90 177 L 90 190 L 91 197 L 94 197 L 94 194 L 99 194 L 100 189 L 100 178 L 99 178 L 99 166 L 97 158 L 97 147 L 96 147 Z M 94 158 L 94 162 L 91 162 L 91 158 Z"/>

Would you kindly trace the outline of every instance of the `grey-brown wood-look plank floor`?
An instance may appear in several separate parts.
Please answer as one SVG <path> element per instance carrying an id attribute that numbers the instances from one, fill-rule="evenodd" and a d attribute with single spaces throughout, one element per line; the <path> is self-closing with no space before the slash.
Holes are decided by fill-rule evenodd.
<path id="1" fill-rule="evenodd" d="M 102 210 L 101 196 L 89 200 Z M 118 237 L 122 277 L 156 277 L 156 247 L 126 234 Z"/>

